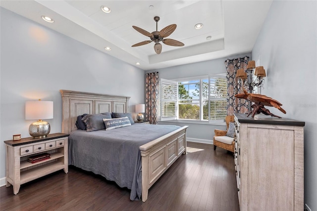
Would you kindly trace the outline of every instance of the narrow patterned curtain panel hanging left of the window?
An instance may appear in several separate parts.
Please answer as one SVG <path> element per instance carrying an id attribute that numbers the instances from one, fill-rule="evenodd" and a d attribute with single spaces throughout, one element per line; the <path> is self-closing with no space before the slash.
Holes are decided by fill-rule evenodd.
<path id="1" fill-rule="evenodd" d="M 158 124 L 159 72 L 145 75 L 145 116 L 150 124 Z"/>

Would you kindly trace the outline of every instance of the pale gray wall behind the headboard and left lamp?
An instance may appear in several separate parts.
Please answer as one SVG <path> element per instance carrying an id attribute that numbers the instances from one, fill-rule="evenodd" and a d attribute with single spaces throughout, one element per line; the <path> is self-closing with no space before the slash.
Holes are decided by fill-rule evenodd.
<path id="1" fill-rule="evenodd" d="M 29 137 L 25 101 L 54 102 L 51 133 L 61 132 L 59 89 L 130 96 L 129 111 L 144 103 L 144 70 L 0 7 L 0 185 L 5 144 L 13 134 Z M 103 48 L 103 46 L 101 46 Z"/>

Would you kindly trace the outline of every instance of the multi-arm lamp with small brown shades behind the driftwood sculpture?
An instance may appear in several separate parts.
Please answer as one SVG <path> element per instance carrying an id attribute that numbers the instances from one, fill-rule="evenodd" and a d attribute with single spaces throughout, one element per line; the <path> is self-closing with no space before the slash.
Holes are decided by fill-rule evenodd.
<path id="1" fill-rule="evenodd" d="M 254 75 L 257 76 L 257 78 L 253 77 L 253 71 L 255 69 Z M 264 84 L 264 77 L 266 76 L 265 70 L 263 66 L 256 67 L 255 61 L 249 61 L 247 70 L 239 69 L 237 70 L 236 77 L 241 78 L 244 82 L 244 84 L 249 86 L 249 92 L 253 92 L 253 88 L 255 86 L 257 87 L 263 87 Z"/>

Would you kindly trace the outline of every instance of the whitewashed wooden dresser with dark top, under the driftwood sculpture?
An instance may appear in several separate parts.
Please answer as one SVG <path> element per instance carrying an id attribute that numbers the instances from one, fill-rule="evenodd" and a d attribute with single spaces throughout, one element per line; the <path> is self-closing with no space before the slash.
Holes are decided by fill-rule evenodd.
<path id="1" fill-rule="evenodd" d="M 305 122 L 234 116 L 240 211 L 303 211 Z"/>

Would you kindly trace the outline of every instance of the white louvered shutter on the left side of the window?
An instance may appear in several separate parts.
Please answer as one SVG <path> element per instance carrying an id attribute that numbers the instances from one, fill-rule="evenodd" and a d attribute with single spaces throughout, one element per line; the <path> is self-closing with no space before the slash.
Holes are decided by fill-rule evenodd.
<path id="1" fill-rule="evenodd" d="M 177 119 L 177 82 L 160 79 L 160 119 L 161 121 Z"/>

